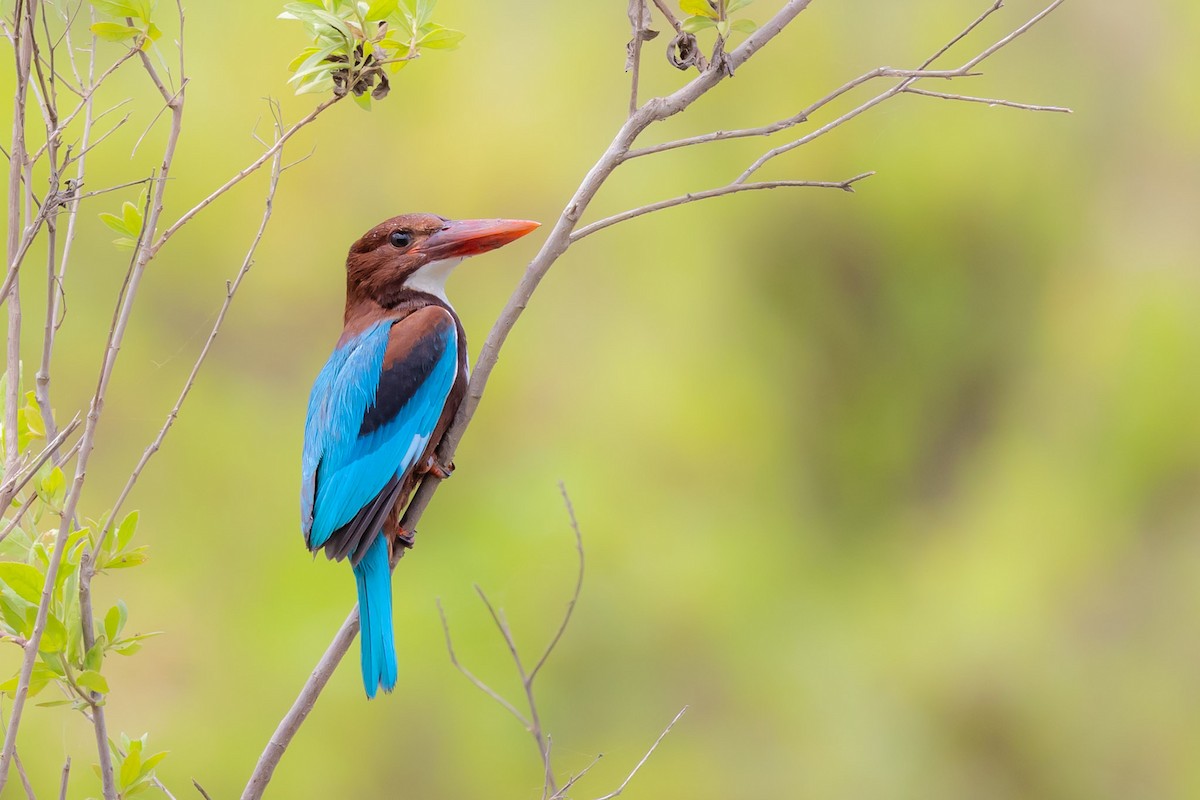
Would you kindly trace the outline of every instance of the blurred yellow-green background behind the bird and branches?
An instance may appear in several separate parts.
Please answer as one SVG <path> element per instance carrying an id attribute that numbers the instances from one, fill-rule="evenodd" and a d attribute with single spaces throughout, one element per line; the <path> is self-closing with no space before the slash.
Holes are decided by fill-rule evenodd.
<path id="1" fill-rule="evenodd" d="M 865 70 L 914 66 L 986 5 L 815 2 L 644 142 L 788 116 Z M 947 65 L 1040 7 L 1010 0 Z M 168 218 L 260 151 L 262 97 L 289 120 L 313 106 L 289 96 L 305 40 L 277 12 L 188 4 Z M 130 504 L 152 560 L 96 583 L 102 604 L 128 602 L 133 630 L 166 631 L 110 662 L 109 727 L 170 750 L 158 774 L 179 796 L 192 777 L 214 798 L 240 792 L 354 600 L 344 566 L 305 552 L 296 515 L 346 248 L 403 211 L 552 222 L 624 119 L 624 2 L 444 0 L 437 19 L 467 32 L 460 50 L 289 148 L 316 150 L 284 174 L 257 264 Z M 355 645 L 269 796 L 539 795 L 532 741 L 450 666 L 434 599 L 464 663 L 517 699 L 472 585 L 527 654 L 542 646 L 574 581 L 559 480 L 588 575 L 540 710 L 562 775 L 605 754 L 578 796 L 616 788 L 685 704 L 625 796 L 1200 796 L 1198 23 L 1186 0 L 1068 2 L 985 77 L 930 88 L 1072 116 L 898 97 L 764 174 L 877 170 L 853 196 L 709 200 L 572 248 L 396 575 L 397 691 L 364 699 Z M 664 44 L 646 49 L 643 96 L 685 79 Z M 7 56 L 0 76 L 8 91 Z M 132 119 L 91 162 L 91 188 L 144 175 L 164 138 L 160 121 L 128 160 L 158 109 L 134 64 L 106 90 L 124 97 Z M 764 146 L 638 160 L 588 217 L 724 184 Z M 112 504 L 174 402 L 264 188 L 240 186 L 152 264 L 85 512 Z M 127 263 L 95 216 L 120 199 L 80 218 L 62 419 L 94 389 Z M 475 351 L 542 236 L 451 281 Z M 43 289 L 38 270 L 26 278 L 28 363 Z M 7 674 L 16 648 L 0 657 Z M 96 794 L 86 723 L 26 718 L 40 792 L 71 753 L 72 796 Z M 4 796 L 20 794 L 13 781 Z"/>

